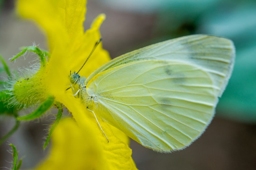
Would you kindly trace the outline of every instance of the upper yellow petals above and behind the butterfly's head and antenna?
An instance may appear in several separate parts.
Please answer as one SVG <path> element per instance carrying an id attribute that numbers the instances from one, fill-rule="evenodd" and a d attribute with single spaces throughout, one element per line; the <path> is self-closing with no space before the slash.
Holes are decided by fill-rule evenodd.
<path id="1" fill-rule="evenodd" d="M 49 94 L 64 93 L 70 83 L 70 71 L 78 71 L 95 43 L 100 39 L 101 14 L 91 28 L 83 33 L 86 0 L 18 0 L 18 12 L 33 19 L 48 35 L 51 59 L 47 64 L 44 84 Z M 88 76 L 110 60 L 100 44 L 80 75 Z M 61 102 L 61 101 L 60 101 Z"/>

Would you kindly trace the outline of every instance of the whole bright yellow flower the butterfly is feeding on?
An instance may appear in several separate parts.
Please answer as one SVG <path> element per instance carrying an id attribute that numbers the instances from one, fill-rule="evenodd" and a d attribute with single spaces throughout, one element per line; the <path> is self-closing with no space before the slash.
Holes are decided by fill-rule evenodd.
<path id="1" fill-rule="evenodd" d="M 50 48 L 49 61 L 29 80 L 24 78 L 36 84 L 34 91 L 24 90 L 24 93 L 36 93 L 32 97 L 36 102 L 53 96 L 55 102 L 68 108 L 75 120 L 62 120 L 56 127 L 50 157 L 38 169 L 134 170 L 128 137 L 98 117 L 109 139 L 107 143 L 92 113 L 71 91 L 65 91 L 70 84 L 70 71 L 78 71 L 88 57 L 100 39 L 99 26 L 105 19 L 104 14 L 99 15 L 84 33 L 85 5 L 86 0 L 18 0 L 17 3 L 18 13 L 35 21 L 47 34 Z M 108 60 L 109 55 L 100 44 L 79 74 L 88 76 Z"/>

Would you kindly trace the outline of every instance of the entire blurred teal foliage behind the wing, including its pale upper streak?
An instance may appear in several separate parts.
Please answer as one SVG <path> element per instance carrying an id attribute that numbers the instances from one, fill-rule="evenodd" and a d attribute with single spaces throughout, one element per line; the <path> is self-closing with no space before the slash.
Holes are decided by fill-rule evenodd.
<path id="1" fill-rule="evenodd" d="M 229 6 L 209 11 L 202 19 L 200 33 L 230 38 L 236 47 L 234 70 L 217 114 L 256 123 L 256 1 L 240 3 L 228 13 Z"/>

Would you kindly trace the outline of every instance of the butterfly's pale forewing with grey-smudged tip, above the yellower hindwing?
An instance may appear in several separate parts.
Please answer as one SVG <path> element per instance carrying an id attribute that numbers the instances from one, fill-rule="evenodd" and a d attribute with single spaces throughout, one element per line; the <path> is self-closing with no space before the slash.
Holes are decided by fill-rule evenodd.
<path id="1" fill-rule="evenodd" d="M 221 82 L 222 84 L 219 85 L 222 88 L 219 94 L 221 96 L 233 70 L 235 48 L 233 42 L 222 37 L 204 34 L 183 36 L 152 44 L 112 59 L 94 71 L 85 84 L 98 73 L 107 69 L 138 60 L 149 59 L 194 63 L 209 70 L 212 78 L 216 78 L 214 83 L 218 82 L 218 76 L 215 77 L 214 75 L 225 75 L 226 77 Z"/>

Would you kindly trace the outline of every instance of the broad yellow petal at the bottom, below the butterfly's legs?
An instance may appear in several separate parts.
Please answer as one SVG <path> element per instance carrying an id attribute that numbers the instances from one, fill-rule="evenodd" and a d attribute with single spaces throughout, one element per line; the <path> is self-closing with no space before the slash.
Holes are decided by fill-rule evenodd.
<path id="1" fill-rule="evenodd" d="M 62 120 L 54 130 L 50 156 L 36 170 L 136 170 L 131 149 L 106 124 L 101 126 L 109 143 L 95 121 L 81 125 L 71 118 Z"/>

